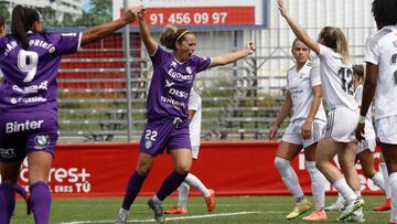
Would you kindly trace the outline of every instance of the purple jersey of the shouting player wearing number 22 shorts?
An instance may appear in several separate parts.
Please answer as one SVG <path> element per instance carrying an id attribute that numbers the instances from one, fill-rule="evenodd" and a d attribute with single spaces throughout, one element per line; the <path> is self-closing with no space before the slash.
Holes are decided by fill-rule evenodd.
<path id="1" fill-rule="evenodd" d="M 208 68 L 211 58 L 192 55 L 187 62 L 180 63 L 171 53 L 158 46 L 151 61 L 153 77 L 147 102 L 148 118 L 187 118 L 189 95 L 194 77 Z"/>

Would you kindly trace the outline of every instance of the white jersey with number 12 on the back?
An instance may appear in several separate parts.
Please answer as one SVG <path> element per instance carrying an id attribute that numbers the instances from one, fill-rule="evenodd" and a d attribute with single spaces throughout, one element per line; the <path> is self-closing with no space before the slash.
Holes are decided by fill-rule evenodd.
<path id="1" fill-rule="evenodd" d="M 352 65 L 343 64 L 342 56 L 322 44 L 320 45 L 320 76 L 326 107 L 358 108 L 353 94 Z"/>

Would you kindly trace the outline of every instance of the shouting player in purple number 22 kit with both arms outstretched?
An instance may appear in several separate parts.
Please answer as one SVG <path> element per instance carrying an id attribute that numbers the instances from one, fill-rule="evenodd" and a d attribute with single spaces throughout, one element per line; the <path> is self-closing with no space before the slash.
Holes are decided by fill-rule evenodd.
<path id="1" fill-rule="evenodd" d="M 234 53 L 215 57 L 194 55 L 195 35 L 185 29 L 167 28 L 160 42 L 172 52 L 161 49 L 150 35 L 143 19 L 144 10 L 139 14 L 141 39 L 153 64 L 147 100 L 147 125 L 139 145 L 138 164 L 129 179 L 126 195 L 116 223 L 127 223 L 128 212 L 144 179 L 148 177 L 158 154 L 167 148 L 171 154 L 174 171 L 164 180 L 160 190 L 148 201 L 157 222 L 164 221 L 161 202 L 171 194 L 187 175 L 192 164 L 191 141 L 189 136 L 187 103 L 189 95 L 197 73 L 210 67 L 226 65 L 255 52 L 253 42 Z"/>

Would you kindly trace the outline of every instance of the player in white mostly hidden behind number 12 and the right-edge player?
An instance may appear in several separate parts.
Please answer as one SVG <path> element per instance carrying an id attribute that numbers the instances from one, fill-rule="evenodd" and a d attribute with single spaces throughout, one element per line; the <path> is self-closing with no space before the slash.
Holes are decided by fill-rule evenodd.
<path id="1" fill-rule="evenodd" d="M 358 105 L 361 105 L 363 96 L 363 82 L 364 82 L 364 66 L 363 65 L 353 65 L 353 85 L 354 85 L 354 98 Z M 375 140 L 375 130 L 373 126 L 373 114 L 369 109 L 365 116 L 365 140 L 358 142 L 357 145 L 357 156 L 356 160 L 360 160 L 363 173 L 365 177 L 369 178 L 382 191 L 386 191 L 385 181 L 383 174 L 375 170 L 374 166 L 374 152 L 376 148 Z M 388 195 L 386 193 L 386 195 Z M 386 202 L 377 207 L 375 211 L 386 210 L 386 205 L 390 201 L 389 199 Z M 331 206 L 325 207 L 325 211 L 340 211 L 344 207 L 344 200 L 341 194 L 339 194 L 337 200 Z M 389 210 L 389 209 L 388 209 Z"/>

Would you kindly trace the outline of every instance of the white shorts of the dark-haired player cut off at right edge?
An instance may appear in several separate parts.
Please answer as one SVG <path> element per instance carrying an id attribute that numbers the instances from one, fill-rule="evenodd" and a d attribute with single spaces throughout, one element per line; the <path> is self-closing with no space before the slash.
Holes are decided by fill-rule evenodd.
<path id="1" fill-rule="evenodd" d="M 375 120 L 376 136 L 383 143 L 397 145 L 397 116 Z"/>

